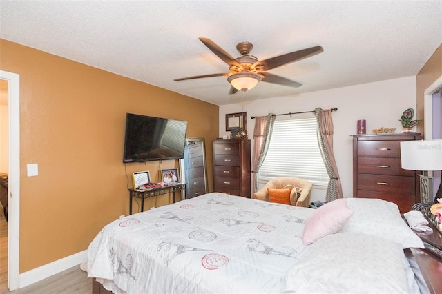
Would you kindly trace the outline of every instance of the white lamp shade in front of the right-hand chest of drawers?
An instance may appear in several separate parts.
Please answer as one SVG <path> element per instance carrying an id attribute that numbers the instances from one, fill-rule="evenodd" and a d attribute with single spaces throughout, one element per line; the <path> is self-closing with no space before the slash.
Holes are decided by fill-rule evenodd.
<path id="1" fill-rule="evenodd" d="M 401 164 L 405 170 L 442 170 L 442 140 L 401 142 Z"/>

